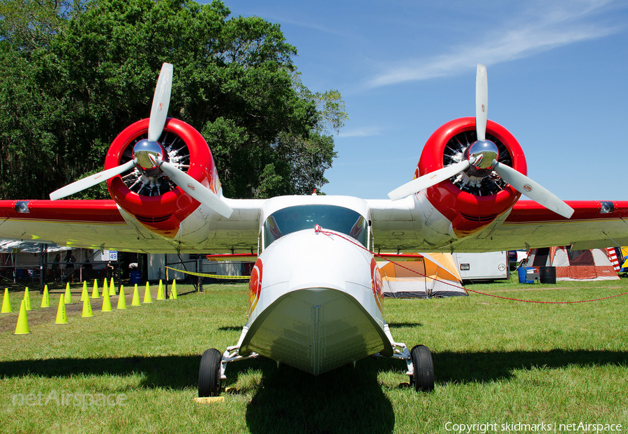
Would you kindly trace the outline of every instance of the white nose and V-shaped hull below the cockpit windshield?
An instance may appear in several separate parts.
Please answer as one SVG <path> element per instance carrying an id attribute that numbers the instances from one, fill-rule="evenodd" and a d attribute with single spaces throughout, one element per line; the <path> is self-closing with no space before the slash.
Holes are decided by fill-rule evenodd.
<path id="1" fill-rule="evenodd" d="M 301 230 L 264 250 L 241 355 L 256 352 L 317 375 L 369 354 L 392 354 L 379 270 L 374 265 L 373 278 L 373 256 L 343 237 Z"/>

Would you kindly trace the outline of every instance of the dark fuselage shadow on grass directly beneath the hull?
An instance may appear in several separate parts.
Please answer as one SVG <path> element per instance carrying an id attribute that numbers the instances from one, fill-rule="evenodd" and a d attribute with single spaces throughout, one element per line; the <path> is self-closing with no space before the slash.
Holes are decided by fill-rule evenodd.
<path id="1" fill-rule="evenodd" d="M 251 433 L 394 431 L 394 407 L 377 382 L 375 359 L 359 361 L 357 368 L 347 365 L 317 377 L 291 366 L 276 366 L 269 359 L 236 365 L 240 366 L 227 373 L 234 380 L 249 369 L 262 370 L 261 384 L 253 386 L 253 398 L 246 407 Z M 396 366 L 396 372 L 399 368 Z M 246 392 L 245 386 L 234 393 Z"/>

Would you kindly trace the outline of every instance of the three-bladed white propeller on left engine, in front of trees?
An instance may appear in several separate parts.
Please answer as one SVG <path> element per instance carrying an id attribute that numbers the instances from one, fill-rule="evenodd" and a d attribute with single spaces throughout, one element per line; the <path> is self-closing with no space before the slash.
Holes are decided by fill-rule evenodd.
<path id="1" fill-rule="evenodd" d="M 140 140 L 133 147 L 133 160 L 130 160 L 117 167 L 103 170 L 89 177 L 80 179 L 61 187 L 50 193 L 50 200 L 57 200 L 63 197 L 73 195 L 81 190 L 95 186 L 96 184 L 115 177 L 127 170 L 137 167 L 140 172 L 148 172 L 151 174 L 158 167 L 163 173 L 169 177 L 174 184 L 177 184 L 181 190 L 192 196 L 198 202 L 201 202 L 209 209 L 216 211 L 221 216 L 229 218 L 233 210 L 222 200 L 216 193 L 209 188 L 203 186 L 193 177 L 183 172 L 172 163 L 168 163 L 167 152 L 158 142 L 165 121 L 167 119 L 168 106 L 170 105 L 170 93 L 172 91 L 172 64 L 163 63 L 155 94 L 153 96 L 153 104 L 151 105 L 151 116 L 149 118 L 148 140 Z"/>

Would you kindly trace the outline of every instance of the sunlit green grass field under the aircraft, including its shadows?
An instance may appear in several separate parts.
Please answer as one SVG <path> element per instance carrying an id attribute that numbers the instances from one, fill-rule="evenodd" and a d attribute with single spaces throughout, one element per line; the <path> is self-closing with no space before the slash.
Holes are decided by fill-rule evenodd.
<path id="1" fill-rule="evenodd" d="M 577 301 L 628 292 L 628 280 L 468 287 Z M 200 354 L 237 342 L 245 285 L 135 308 L 127 293 L 128 310 L 94 307 L 91 318 L 77 304 L 69 324 L 54 324 L 56 307 L 37 313 L 31 292 L 38 320 L 23 336 L 13 335 L 21 293 L 11 297 L 14 313 L 0 316 L 5 433 L 457 433 L 458 424 L 491 424 L 465 426 L 471 433 L 599 432 L 580 423 L 628 432 L 628 296 L 387 299 L 396 341 L 432 350 L 432 393 L 408 387 L 403 361 L 367 358 L 313 377 L 256 359 L 227 366 L 230 389 L 211 404 L 193 402 Z"/>

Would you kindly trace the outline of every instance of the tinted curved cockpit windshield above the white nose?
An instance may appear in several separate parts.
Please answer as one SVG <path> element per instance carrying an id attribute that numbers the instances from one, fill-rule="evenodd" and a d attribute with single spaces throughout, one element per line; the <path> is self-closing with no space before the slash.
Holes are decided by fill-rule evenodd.
<path id="1" fill-rule="evenodd" d="M 264 222 L 264 248 L 284 235 L 313 229 L 314 225 L 346 234 L 367 247 L 366 218 L 352 209 L 317 204 L 287 207 L 271 214 Z"/>

